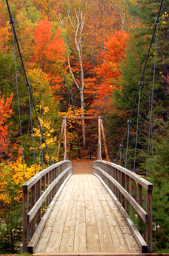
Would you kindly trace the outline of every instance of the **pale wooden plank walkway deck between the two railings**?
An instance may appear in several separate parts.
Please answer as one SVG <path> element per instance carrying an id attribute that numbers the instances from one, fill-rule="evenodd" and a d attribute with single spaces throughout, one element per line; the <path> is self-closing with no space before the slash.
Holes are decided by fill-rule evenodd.
<path id="1" fill-rule="evenodd" d="M 111 197 L 94 175 L 72 175 L 41 233 L 34 254 L 140 253 Z"/>

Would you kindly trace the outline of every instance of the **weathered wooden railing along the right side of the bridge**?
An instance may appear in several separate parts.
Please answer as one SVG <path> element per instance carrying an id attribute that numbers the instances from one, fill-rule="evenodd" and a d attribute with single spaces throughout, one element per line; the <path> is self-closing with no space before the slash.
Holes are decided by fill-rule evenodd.
<path id="1" fill-rule="evenodd" d="M 110 196 L 130 226 L 142 252 L 152 252 L 152 189 L 153 185 L 130 170 L 117 164 L 97 160 L 93 162 L 93 174 L 103 183 Z M 146 211 L 142 208 L 142 188 L 146 190 Z M 128 214 L 134 209 L 137 212 L 137 223 L 140 219 L 146 223 L 146 243 L 130 220 Z M 128 214 L 127 214 L 128 213 Z"/>

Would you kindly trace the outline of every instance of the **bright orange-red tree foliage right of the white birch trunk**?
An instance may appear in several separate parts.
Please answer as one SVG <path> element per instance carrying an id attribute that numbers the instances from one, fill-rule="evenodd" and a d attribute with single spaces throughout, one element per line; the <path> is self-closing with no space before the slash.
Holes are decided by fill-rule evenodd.
<path id="1" fill-rule="evenodd" d="M 128 34 L 125 31 L 116 31 L 113 36 L 104 40 L 104 50 L 101 53 L 102 64 L 96 68 L 96 74 L 100 80 L 97 89 L 97 99 L 93 108 L 108 114 L 111 105 L 111 93 L 115 86 L 114 81 L 119 81 L 120 63 L 125 61 L 125 50 Z"/>

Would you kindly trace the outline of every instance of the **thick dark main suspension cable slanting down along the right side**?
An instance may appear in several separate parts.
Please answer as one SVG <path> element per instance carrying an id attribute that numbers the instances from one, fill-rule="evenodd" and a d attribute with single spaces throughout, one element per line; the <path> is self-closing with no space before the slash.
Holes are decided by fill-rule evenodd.
<path id="1" fill-rule="evenodd" d="M 163 0 L 161 0 L 160 7 L 159 7 L 159 11 L 158 11 L 158 15 L 157 15 L 156 20 L 159 20 L 159 15 L 160 15 L 162 3 L 163 3 Z M 147 61 L 148 61 L 149 52 L 150 52 L 150 49 L 151 49 L 151 45 L 152 45 L 152 41 L 153 41 L 153 38 L 154 38 L 154 34 L 155 34 L 156 27 L 157 27 L 157 24 L 155 23 L 154 30 L 153 30 L 152 37 L 151 37 L 151 42 L 150 42 L 150 45 L 149 45 L 148 53 L 147 53 L 147 56 L 146 56 L 146 60 L 145 60 L 144 67 L 143 67 L 143 71 L 142 71 L 140 83 L 142 82 L 142 79 L 143 79 L 143 75 L 144 75 L 145 67 L 146 67 L 146 64 L 147 64 Z M 129 121 L 131 121 L 131 117 L 132 117 L 132 114 L 133 114 L 133 111 L 134 111 L 134 107 L 135 107 L 135 104 L 136 104 L 136 100 L 137 100 L 138 94 L 139 94 L 139 88 L 138 88 L 137 93 L 136 93 L 136 96 L 135 96 L 135 100 L 134 100 L 134 103 L 133 103 L 133 106 L 132 106 L 132 110 L 131 110 L 131 114 L 130 114 L 130 117 L 129 117 Z M 124 135 L 123 135 L 123 138 L 122 138 L 121 145 L 123 145 L 123 141 L 124 141 L 124 138 L 125 138 L 125 135 L 126 135 L 126 132 L 127 132 L 127 128 L 128 128 L 128 125 L 127 125 L 127 127 L 126 127 L 126 129 L 125 129 L 125 132 L 124 132 Z M 116 158 L 114 159 L 114 162 L 117 161 L 117 157 L 118 157 L 119 151 L 120 151 L 120 148 L 119 148 L 119 150 L 118 150 L 118 152 L 117 152 L 117 155 L 116 155 Z"/>

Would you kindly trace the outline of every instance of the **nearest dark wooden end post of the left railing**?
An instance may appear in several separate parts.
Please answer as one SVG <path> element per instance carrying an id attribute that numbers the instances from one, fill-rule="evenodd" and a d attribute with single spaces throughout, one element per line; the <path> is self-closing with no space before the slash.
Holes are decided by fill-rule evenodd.
<path id="1" fill-rule="evenodd" d="M 28 245 L 28 223 L 27 223 L 27 214 L 28 214 L 28 190 L 22 191 L 22 227 L 23 227 L 23 252 L 27 251 Z"/>

